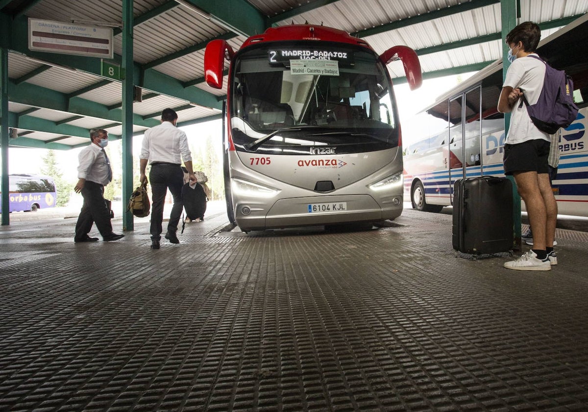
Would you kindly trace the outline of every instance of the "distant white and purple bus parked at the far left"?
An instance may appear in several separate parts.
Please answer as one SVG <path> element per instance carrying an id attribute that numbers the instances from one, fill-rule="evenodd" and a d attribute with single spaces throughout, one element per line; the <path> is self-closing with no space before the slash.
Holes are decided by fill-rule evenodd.
<path id="1" fill-rule="evenodd" d="M 52 177 L 11 174 L 8 181 L 10 213 L 36 212 L 39 208 L 55 207 L 57 192 Z M 2 213 L 2 202 L 0 202 L 0 213 Z"/>

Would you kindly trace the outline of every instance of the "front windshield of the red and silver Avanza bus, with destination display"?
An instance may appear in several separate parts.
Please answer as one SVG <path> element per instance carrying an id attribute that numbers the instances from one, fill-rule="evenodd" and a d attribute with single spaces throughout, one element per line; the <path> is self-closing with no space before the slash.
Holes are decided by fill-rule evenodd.
<path id="1" fill-rule="evenodd" d="M 232 79 L 238 151 L 299 154 L 336 145 L 338 153 L 353 153 L 398 146 L 386 68 L 366 49 L 264 44 L 236 57 Z"/>

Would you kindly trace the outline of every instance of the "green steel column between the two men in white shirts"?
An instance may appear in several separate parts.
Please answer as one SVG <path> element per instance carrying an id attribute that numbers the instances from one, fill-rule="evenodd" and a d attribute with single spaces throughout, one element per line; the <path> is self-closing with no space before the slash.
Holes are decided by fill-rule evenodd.
<path id="1" fill-rule="evenodd" d="M 133 192 L 133 0 L 122 2 L 122 230 L 135 230 L 126 201 Z M 139 160 L 136 160 L 139 161 Z"/>

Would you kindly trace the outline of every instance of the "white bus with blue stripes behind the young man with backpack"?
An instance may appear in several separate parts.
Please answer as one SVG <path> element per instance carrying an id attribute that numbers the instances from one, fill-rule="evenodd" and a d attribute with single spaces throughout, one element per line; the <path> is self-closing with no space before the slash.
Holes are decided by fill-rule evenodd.
<path id="1" fill-rule="evenodd" d="M 553 191 L 559 213 L 577 216 L 588 216 L 588 49 L 572 44 L 586 41 L 588 14 L 545 38 L 537 49 L 574 81 L 574 101 L 580 111 L 576 121 L 557 133 L 560 161 Z M 404 148 L 405 199 L 410 198 L 413 208 L 438 212 L 453 204 L 457 179 L 504 175 L 504 115 L 496 109 L 502 76 L 499 60 L 420 114 L 422 123 L 438 129 Z M 407 128 L 405 134 L 409 132 Z"/>

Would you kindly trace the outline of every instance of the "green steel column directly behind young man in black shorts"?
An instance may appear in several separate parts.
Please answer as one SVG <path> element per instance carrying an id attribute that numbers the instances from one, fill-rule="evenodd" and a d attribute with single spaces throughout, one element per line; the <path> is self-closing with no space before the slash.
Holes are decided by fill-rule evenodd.
<path id="1" fill-rule="evenodd" d="M 506 78 L 506 71 L 509 68 L 510 62 L 507 59 L 509 46 L 505 43 L 506 35 L 517 25 L 518 11 L 520 9 L 519 0 L 500 0 L 500 15 L 502 17 L 502 80 Z M 505 114 L 505 137 L 509 131 L 510 113 Z M 515 241 L 513 248 L 520 250 L 521 248 L 521 230 L 520 230 L 520 196 L 517 192 L 515 179 L 512 176 L 508 177 L 513 184 L 513 222 L 515 231 Z"/>

